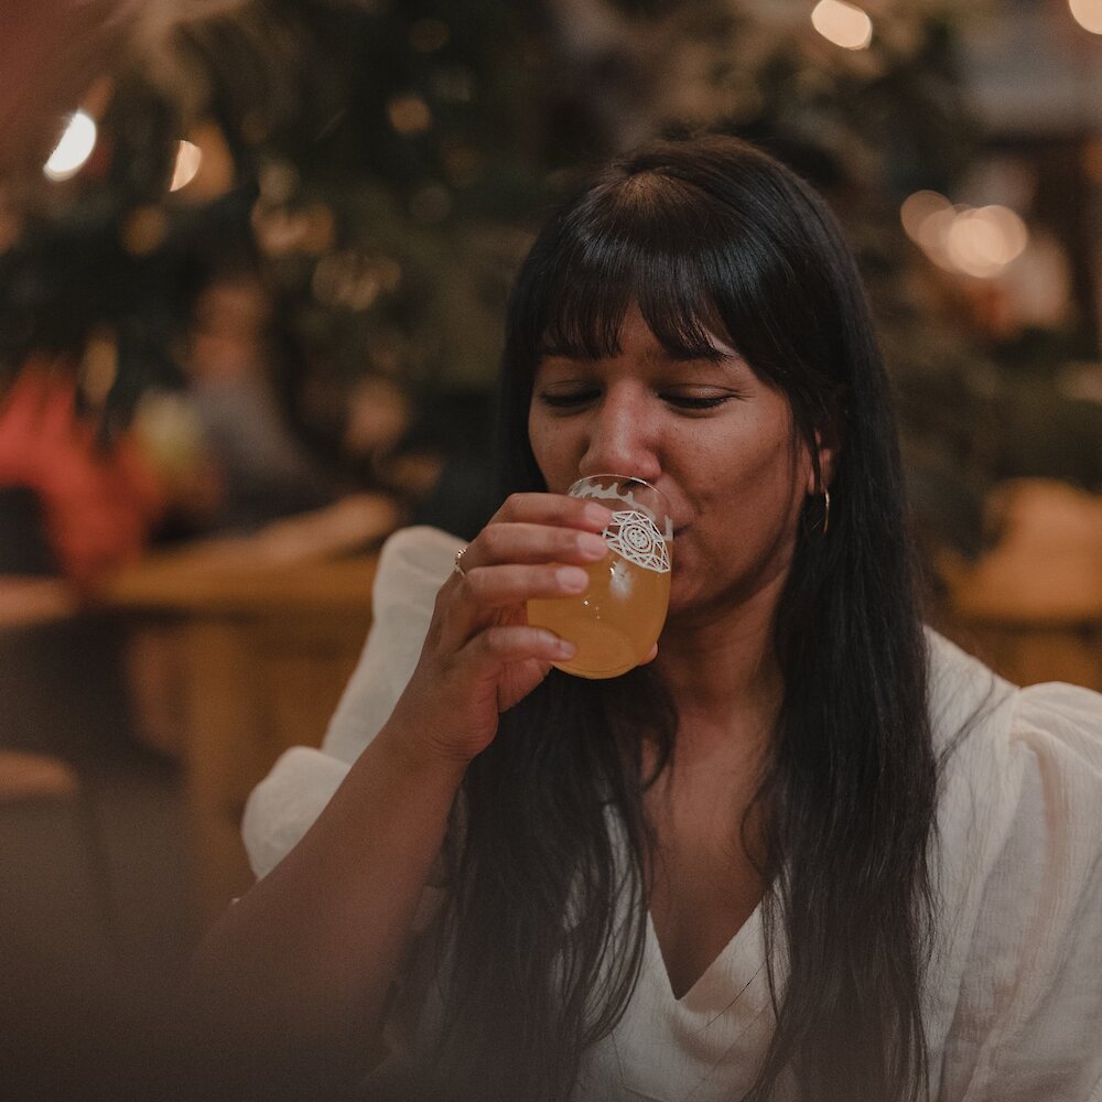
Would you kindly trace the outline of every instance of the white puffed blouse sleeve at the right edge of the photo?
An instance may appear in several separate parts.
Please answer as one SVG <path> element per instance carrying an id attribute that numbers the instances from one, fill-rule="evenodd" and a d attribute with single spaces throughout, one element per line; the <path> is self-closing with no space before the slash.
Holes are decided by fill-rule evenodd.
<path id="1" fill-rule="evenodd" d="M 939 1096 L 1102 1102 L 1102 696 L 1035 685 L 1008 714 Z"/>

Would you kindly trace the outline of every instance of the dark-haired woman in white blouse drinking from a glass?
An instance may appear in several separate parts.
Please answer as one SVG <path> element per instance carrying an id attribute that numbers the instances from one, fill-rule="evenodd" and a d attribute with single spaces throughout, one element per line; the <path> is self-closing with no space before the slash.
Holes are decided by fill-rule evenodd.
<path id="1" fill-rule="evenodd" d="M 324 750 L 250 801 L 197 981 L 238 1042 L 369 1096 L 1085 1102 L 1099 699 L 923 636 L 823 203 L 733 139 L 617 162 L 521 269 L 503 396 L 511 496 L 391 540 Z M 585 682 L 523 607 L 603 553 L 563 495 L 604 471 L 674 572 L 650 663 Z"/>

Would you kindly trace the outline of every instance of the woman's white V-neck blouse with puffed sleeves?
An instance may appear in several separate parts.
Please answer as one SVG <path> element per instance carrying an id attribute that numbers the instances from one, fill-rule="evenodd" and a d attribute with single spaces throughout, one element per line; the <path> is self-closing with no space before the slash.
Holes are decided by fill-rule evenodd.
<path id="1" fill-rule="evenodd" d="M 288 750 L 249 799 L 244 835 L 258 876 L 305 833 L 390 715 L 460 545 L 431 528 L 388 540 L 375 623 L 322 748 Z M 971 721 L 938 813 L 944 921 L 923 1015 L 932 1096 L 1102 1102 L 1102 695 L 1017 689 L 932 631 L 928 645 L 936 741 Z M 648 922 L 639 982 L 586 1054 L 576 1098 L 730 1102 L 752 1083 L 773 1027 L 759 911 L 681 998 Z M 396 1059 L 415 1045 L 401 1023 L 388 1036 Z"/>

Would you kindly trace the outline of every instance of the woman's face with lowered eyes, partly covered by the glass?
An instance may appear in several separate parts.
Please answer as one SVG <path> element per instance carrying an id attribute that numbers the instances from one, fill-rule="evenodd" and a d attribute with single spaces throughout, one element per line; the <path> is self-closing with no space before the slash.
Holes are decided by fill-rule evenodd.
<path id="1" fill-rule="evenodd" d="M 779 593 L 804 496 L 814 490 L 788 399 L 712 337 L 715 358 L 673 359 L 637 307 L 618 356 L 548 356 L 528 415 L 552 493 L 603 472 L 657 486 L 674 522 L 671 619 Z M 824 471 L 829 456 L 822 454 Z"/>

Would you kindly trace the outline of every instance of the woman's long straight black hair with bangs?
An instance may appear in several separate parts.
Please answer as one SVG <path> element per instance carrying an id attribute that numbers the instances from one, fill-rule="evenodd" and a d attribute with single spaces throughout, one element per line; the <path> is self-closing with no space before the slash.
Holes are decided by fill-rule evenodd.
<path id="1" fill-rule="evenodd" d="M 829 531 L 809 497 L 776 623 L 785 694 L 758 800 L 777 1024 L 746 1099 L 773 1098 L 785 1073 L 804 1100 L 911 1102 L 928 1091 L 936 767 L 903 476 L 858 274 L 822 199 L 750 145 L 660 142 L 617 161 L 552 218 L 517 280 L 508 489 L 545 488 L 527 435 L 540 349 L 613 354 L 633 303 L 676 355 L 720 325 L 788 397 L 812 456 L 817 432 L 841 444 Z M 480 1098 L 568 1098 L 581 1054 L 630 998 L 651 842 L 644 721 L 661 768 L 677 715 L 657 676 L 552 672 L 471 766 L 442 1049 L 460 1095 L 469 1083 Z"/>

